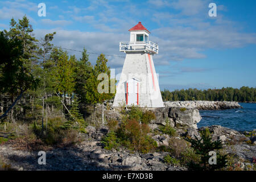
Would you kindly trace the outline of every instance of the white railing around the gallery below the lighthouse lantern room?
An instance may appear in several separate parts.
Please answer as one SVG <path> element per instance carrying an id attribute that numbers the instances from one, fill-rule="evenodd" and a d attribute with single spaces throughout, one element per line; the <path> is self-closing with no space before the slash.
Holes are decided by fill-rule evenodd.
<path id="1" fill-rule="evenodd" d="M 119 51 L 121 52 L 148 51 L 151 53 L 158 54 L 158 44 L 151 41 L 120 42 Z"/>

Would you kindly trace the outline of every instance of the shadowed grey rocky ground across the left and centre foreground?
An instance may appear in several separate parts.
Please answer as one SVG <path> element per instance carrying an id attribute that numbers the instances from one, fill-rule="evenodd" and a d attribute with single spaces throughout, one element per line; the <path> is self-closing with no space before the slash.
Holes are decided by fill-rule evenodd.
<path id="1" fill-rule="evenodd" d="M 101 143 L 106 128 L 88 127 L 86 140 L 73 147 L 56 148 L 46 151 L 46 165 L 38 164 L 37 151 L 15 150 L 9 144 L 0 145 L 0 159 L 11 168 L 23 170 L 61 171 L 184 171 L 186 168 L 164 163 L 168 152 L 139 154 L 123 147 L 118 150 L 105 150 Z"/>

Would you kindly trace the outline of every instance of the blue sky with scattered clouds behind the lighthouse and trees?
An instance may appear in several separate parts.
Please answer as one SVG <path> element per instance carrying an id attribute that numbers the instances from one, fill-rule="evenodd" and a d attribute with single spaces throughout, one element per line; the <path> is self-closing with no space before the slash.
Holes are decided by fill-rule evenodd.
<path id="1" fill-rule="evenodd" d="M 46 4 L 46 17 L 38 4 Z M 209 17 L 209 3 L 217 17 Z M 119 42 L 129 41 L 129 28 L 139 21 L 159 44 L 154 56 L 160 89 L 208 89 L 256 86 L 256 1 L 2 1 L 0 30 L 12 17 L 28 16 L 36 38 L 56 31 L 54 44 L 63 48 L 125 56 Z M 81 53 L 68 51 L 77 57 Z M 97 55 L 90 55 L 95 63 Z M 115 73 L 124 58 L 108 56 Z"/>

